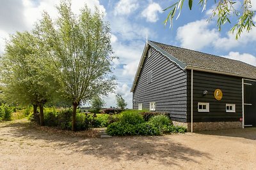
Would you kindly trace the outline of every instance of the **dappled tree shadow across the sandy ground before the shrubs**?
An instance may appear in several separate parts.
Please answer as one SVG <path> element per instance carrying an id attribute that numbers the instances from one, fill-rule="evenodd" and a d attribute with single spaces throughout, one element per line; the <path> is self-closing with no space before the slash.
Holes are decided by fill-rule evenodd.
<path id="1" fill-rule="evenodd" d="M 44 131 L 44 127 L 35 127 L 29 123 L 6 124 L 10 138 L 32 139 L 33 145 L 36 141 L 44 141 L 46 147 L 54 149 L 65 149 L 84 155 L 93 155 L 99 158 L 119 160 L 150 162 L 157 161 L 158 164 L 176 165 L 177 160 L 184 162 L 196 162 L 195 158 L 206 157 L 211 159 L 207 153 L 199 152 L 187 146 L 175 143 L 172 135 L 168 136 L 129 136 L 113 138 L 83 138 L 70 134 L 60 134 Z M 182 134 L 181 134 L 182 135 Z M 39 142 L 39 141 L 38 141 Z M 38 145 L 38 147 L 40 147 Z M 45 146 L 44 146 L 45 147 Z M 200 162 L 196 162 L 200 164 Z"/>

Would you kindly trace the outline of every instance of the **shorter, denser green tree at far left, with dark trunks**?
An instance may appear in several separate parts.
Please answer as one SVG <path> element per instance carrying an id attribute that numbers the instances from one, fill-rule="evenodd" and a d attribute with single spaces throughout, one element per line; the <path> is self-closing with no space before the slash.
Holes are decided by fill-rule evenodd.
<path id="1" fill-rule="evenodd" d="M 29 32 L 10 36 L 1 58 L 1 83 L 8 103 L 33 104 L 34 116 L 39 106 L 40 125 L 44 125 L 43 106 L 51 99 L 56 83 L 41 45 Z"/>

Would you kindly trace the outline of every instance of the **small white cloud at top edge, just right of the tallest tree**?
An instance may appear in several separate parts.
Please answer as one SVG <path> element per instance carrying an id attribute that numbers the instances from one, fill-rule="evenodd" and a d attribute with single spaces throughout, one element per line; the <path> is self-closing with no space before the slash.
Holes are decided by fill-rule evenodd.
<path id="1" fill-rule="evenodd" d="M 121 0 L 114 9 L 115 15 L 129 15 L 133 11 L 137 10 L 139 4 L 136 0 Z"/>

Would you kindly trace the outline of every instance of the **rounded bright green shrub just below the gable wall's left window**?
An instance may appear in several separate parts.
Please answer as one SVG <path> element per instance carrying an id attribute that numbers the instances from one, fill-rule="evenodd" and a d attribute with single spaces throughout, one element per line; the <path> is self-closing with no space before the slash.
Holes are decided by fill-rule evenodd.
<path id="1" fill-rule="evenodd" d="M 145 120 L 140 114 L 140 111 L 135 111 L 135 110 L 123 111 L 120 115 L 119 121 L 122 124 L 131 124 L 131 125 L 141 124 L 145 122 Z"/>

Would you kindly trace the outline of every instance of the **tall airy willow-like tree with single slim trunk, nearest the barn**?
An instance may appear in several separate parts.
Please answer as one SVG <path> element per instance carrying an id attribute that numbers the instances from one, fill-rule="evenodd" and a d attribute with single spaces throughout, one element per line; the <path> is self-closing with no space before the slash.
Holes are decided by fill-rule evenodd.
<path id="1" fill-rule="evenodd" d="M 80 15 L 74 15 L 71 4 L 65 1 L 57 8 L 60 15 L 56 22 L 45 12 L 36 28 L 54 62 L 62 96 L 73 105 L 75 131 L 79 103 L 106 95 L 115 87 L 114 77 L 109 76 L 113 60 L 111 34 L 97 8 L 92 13 L 84 6 Z"/>

